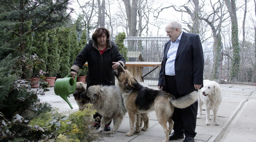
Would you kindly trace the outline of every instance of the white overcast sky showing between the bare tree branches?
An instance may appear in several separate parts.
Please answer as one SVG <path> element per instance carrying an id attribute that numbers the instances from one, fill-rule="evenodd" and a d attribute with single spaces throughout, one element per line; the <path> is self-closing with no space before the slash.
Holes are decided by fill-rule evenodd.
<path id="1" fill-rule="evenodd" d="M 78 0 L 81 4 L 82 3 L 84 3 L 84 2 L 87 2 L 87 1 L 90 1 L 90 0 Z M 111 0 L 110 0 L 111 1 Z M 113 0 L 112 0 L 113 1 Z M 111 15 L 114 15 L 114 14 L 116 14 L 117 12 L 120 12 L 120 11 L 118 11 L 118 7 L 119 7 L 119 5 L 118 5 L 118 2 L 117 2 L 117 0 L 114 0 L 115 1 L 115 3 L 116 4 L 113 4 L 113 5 L 111 5 L 111 8 L 113 8 L 113 10 L 111 10 Z M 119 1 L 121 1 L 121 0 L 119 0 Z M 149 0 L 148 0 L 149 1 Z M 216 0 L 215 0 L 216 1 Z M 95 3 L 96 3 L 97 1 L 95 0 Z M 106 0 L 106 3 L 108 2 L 108 0 Z M 160 7 L 160 8 L 163 8 L 163 7 L 168 7 L 168 6 L 170 6 L 170 5 L 172 5 L 172 4 L 175 4 L 175 5 L 182 5 L 182 4 L 184 4 L 184 3 L 186 3 L 187 2 L 187 0 L 154 0 L 154 7 Z M 201 2 L 201 0 L 199 0 L 199 2 Z M 206 2 L 209 2 L 209 0 L 206 0 Z M 211 10 L 211 7 L 210 7 L 210 5 L 206 5 L 207 3 L 204 3 L 205 4 L 205 7 L 204 7 L 204 10 Z M 122 4 L 123 4 L 123 2 L 121 2 Z M 239 26 L 238 27 L 242 27 L 242 21 L 243 21 L 243 16 L 244 16 L 244 11 L 243 11 L 243 9 L 244 9 L 244 6 L 243 6 L 243 4 L 244 4 L 244 0 L 236 0 L 236 7 L 242 7 L 242 8 L 240 8 L 238 11 L 237 11 L 237 18 L 238 18 L 238 24 L 239 24 Z M 115 6 L 116 5 L 116 6 Z M 161 6 L 162 5 L 162 6 Z M 107 5 L 106 5 L 107 6 Z M 74 8 L 75 9 L 75 12 L 76 13 L 79 13 L 79 5 L 77 4 L 77 0 L 74 0 L 73 1 L 73 4 L 71 5 L 71 7 L 72 8 Z M 209 8 L 207 8 L 207 7 L 209 7 Z M 246 24 L 246 26 L 247 26 L 247 29 L 248 29 L 248 31 L 249 31 L 249 27 L 252 27 L 252 24 L 253 23 L 250 23 L 250 18 L 251 17 L 254 17 L 255 18 L 255 11 L 254 11 L 254 1 L 253 0 L 248 0 L 248 2 L 247 2 L 247 10 L 248 10 L 248 12 L 247 12 L 247 17 L 246 17 L 246 21 L 248 21 L 247 22 L 247 24 Z M 76 18 L 77 17 L 77 15 L 75 14 L 75 12 L 72 14 L 72 17 L 73 18 Z M 188 20 L 190 20 L 190 16 L 189 15 L 187 15 L 187 14 L 183 14 L 182 15 L 183 16 L 183 19 L 185 18 L 185 19 L 188 19 Z M 97 17 L 95 17 L 95 20 L 97 19 Z M 137 18 L 137 20 L 138 20 L 138 18 Z M 180 12 L 176 12 L 175 10 L 173 10 L 173 8 L 169 8 L 169 9 L 164 9 L 161 13 L 160 13 L 160 15 L 159 15 L 159 19 L 157 20 L 157 21 L 155 21 L 154 20 L 154 17 L 153 16 L 151 16 L 150 17 L 150 21 L 152 22 L 152 23 L 156 23 L 156 24 L 159 24 L 159 23 L 162 23 L 161 25 L 160 25 L 160 30 L 159 30 L 159 33 L 157 33 L 157 30 L 158 30 L 158 28 L 157 27 L 154 27 L 154 26 L 152 26 L 152 28 L 150 29 L 151 31 L 152 31 L 152 33 L 153 33 L 153 35 L 152 36 L 166 36 L 166 32 L 165 32 L 165 26 L 166 26 L 166 23 L 167 22 L 169 22 L 170 20 L 178 20 L 178 21 L 181 21 L 181 13 Z M 254 19 L 254 20 L 256 20 L 256 19 Z M 185 27 L 185 25 L 183 25 L 183 28 Z M 186 28 L 186 27 L 185 27 Z M 120 32 L 125 32 L 125 29 L 122 29 L 122 28 L 119 28 L 119 29 L 117 29 L 115 32 L 113 32 L 113 34 L 114 33 L 120 33 Z M 144 31 L 143 31 L 144 32 Z M 239 29 L 239 34 L 240 35 L 242 35 L 242 28 L 241 29 Z M 115 36 L 116 34 L 114 34 L 114 36 Z M 242 37 L 241 36 L 239 36 L 239 39 L 240 40 L 242 40 Z"/>

